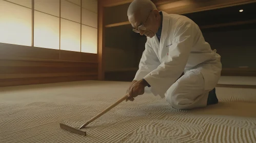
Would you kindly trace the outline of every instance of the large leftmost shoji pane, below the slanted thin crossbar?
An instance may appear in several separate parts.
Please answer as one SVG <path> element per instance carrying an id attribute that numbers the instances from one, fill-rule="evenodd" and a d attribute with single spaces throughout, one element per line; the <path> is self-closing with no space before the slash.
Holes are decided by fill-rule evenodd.
<path id="1" fill-rule="evenodd" d="M 0 1 L 0 42 L 31 46 L 31 9 Z"/>

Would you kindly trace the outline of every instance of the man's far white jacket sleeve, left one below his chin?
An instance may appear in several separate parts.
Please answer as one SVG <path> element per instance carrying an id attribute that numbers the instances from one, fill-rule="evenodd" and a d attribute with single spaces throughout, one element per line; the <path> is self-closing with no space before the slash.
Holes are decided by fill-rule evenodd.
<path id="1" fill-rule="evenodd" d="M 141 80 L 146 75 L 148 75 L 151 71 L 157 68 L 160 65 L 160 61 L 156 56 L 154 50 L 152 49 L 152 45 L 149 40 L 147 40 L 145 44 L 145 50 L 142 54 L 142 58 L 139 64 L 139 70 L 134 77 L 134 80 Z"/>

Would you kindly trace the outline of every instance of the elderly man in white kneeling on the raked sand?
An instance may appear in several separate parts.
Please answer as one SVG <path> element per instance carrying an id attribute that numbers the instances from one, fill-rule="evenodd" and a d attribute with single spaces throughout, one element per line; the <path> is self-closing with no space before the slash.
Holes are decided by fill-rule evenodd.
<path id="1" fill-rule="evenodd" d="M 221 75 L 221 57 L 211 50 L 196 23 L 158 11 L 150 0 L 134 0 L 127 16 L 133 31 L 147 36 L 127 101 L 147 88 L 176 109 L 218 103 L 215 86 Z"/>

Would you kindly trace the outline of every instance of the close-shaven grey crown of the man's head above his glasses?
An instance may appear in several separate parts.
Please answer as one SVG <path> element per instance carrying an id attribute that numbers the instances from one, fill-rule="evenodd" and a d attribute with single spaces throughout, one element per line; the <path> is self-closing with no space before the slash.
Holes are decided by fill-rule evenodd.
<path id="1" fill-rule="evenodd" d="M 136 13 L 140 15 L 140 17 L 145 17 L 152 10 L 156 10 L 156 6 L 150 0 L 134 0 L 127 11 L 127 16 L 131 16 Z"/>

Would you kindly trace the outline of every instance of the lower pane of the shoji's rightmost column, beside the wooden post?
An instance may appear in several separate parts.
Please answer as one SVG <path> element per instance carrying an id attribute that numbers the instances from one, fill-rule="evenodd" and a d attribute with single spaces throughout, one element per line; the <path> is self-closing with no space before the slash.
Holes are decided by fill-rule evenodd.
<path id="1" fill-rule="evenodd" d="M 82 25 L 82 48 L 84 53 L 97 53 L 97 29 Z"/>

